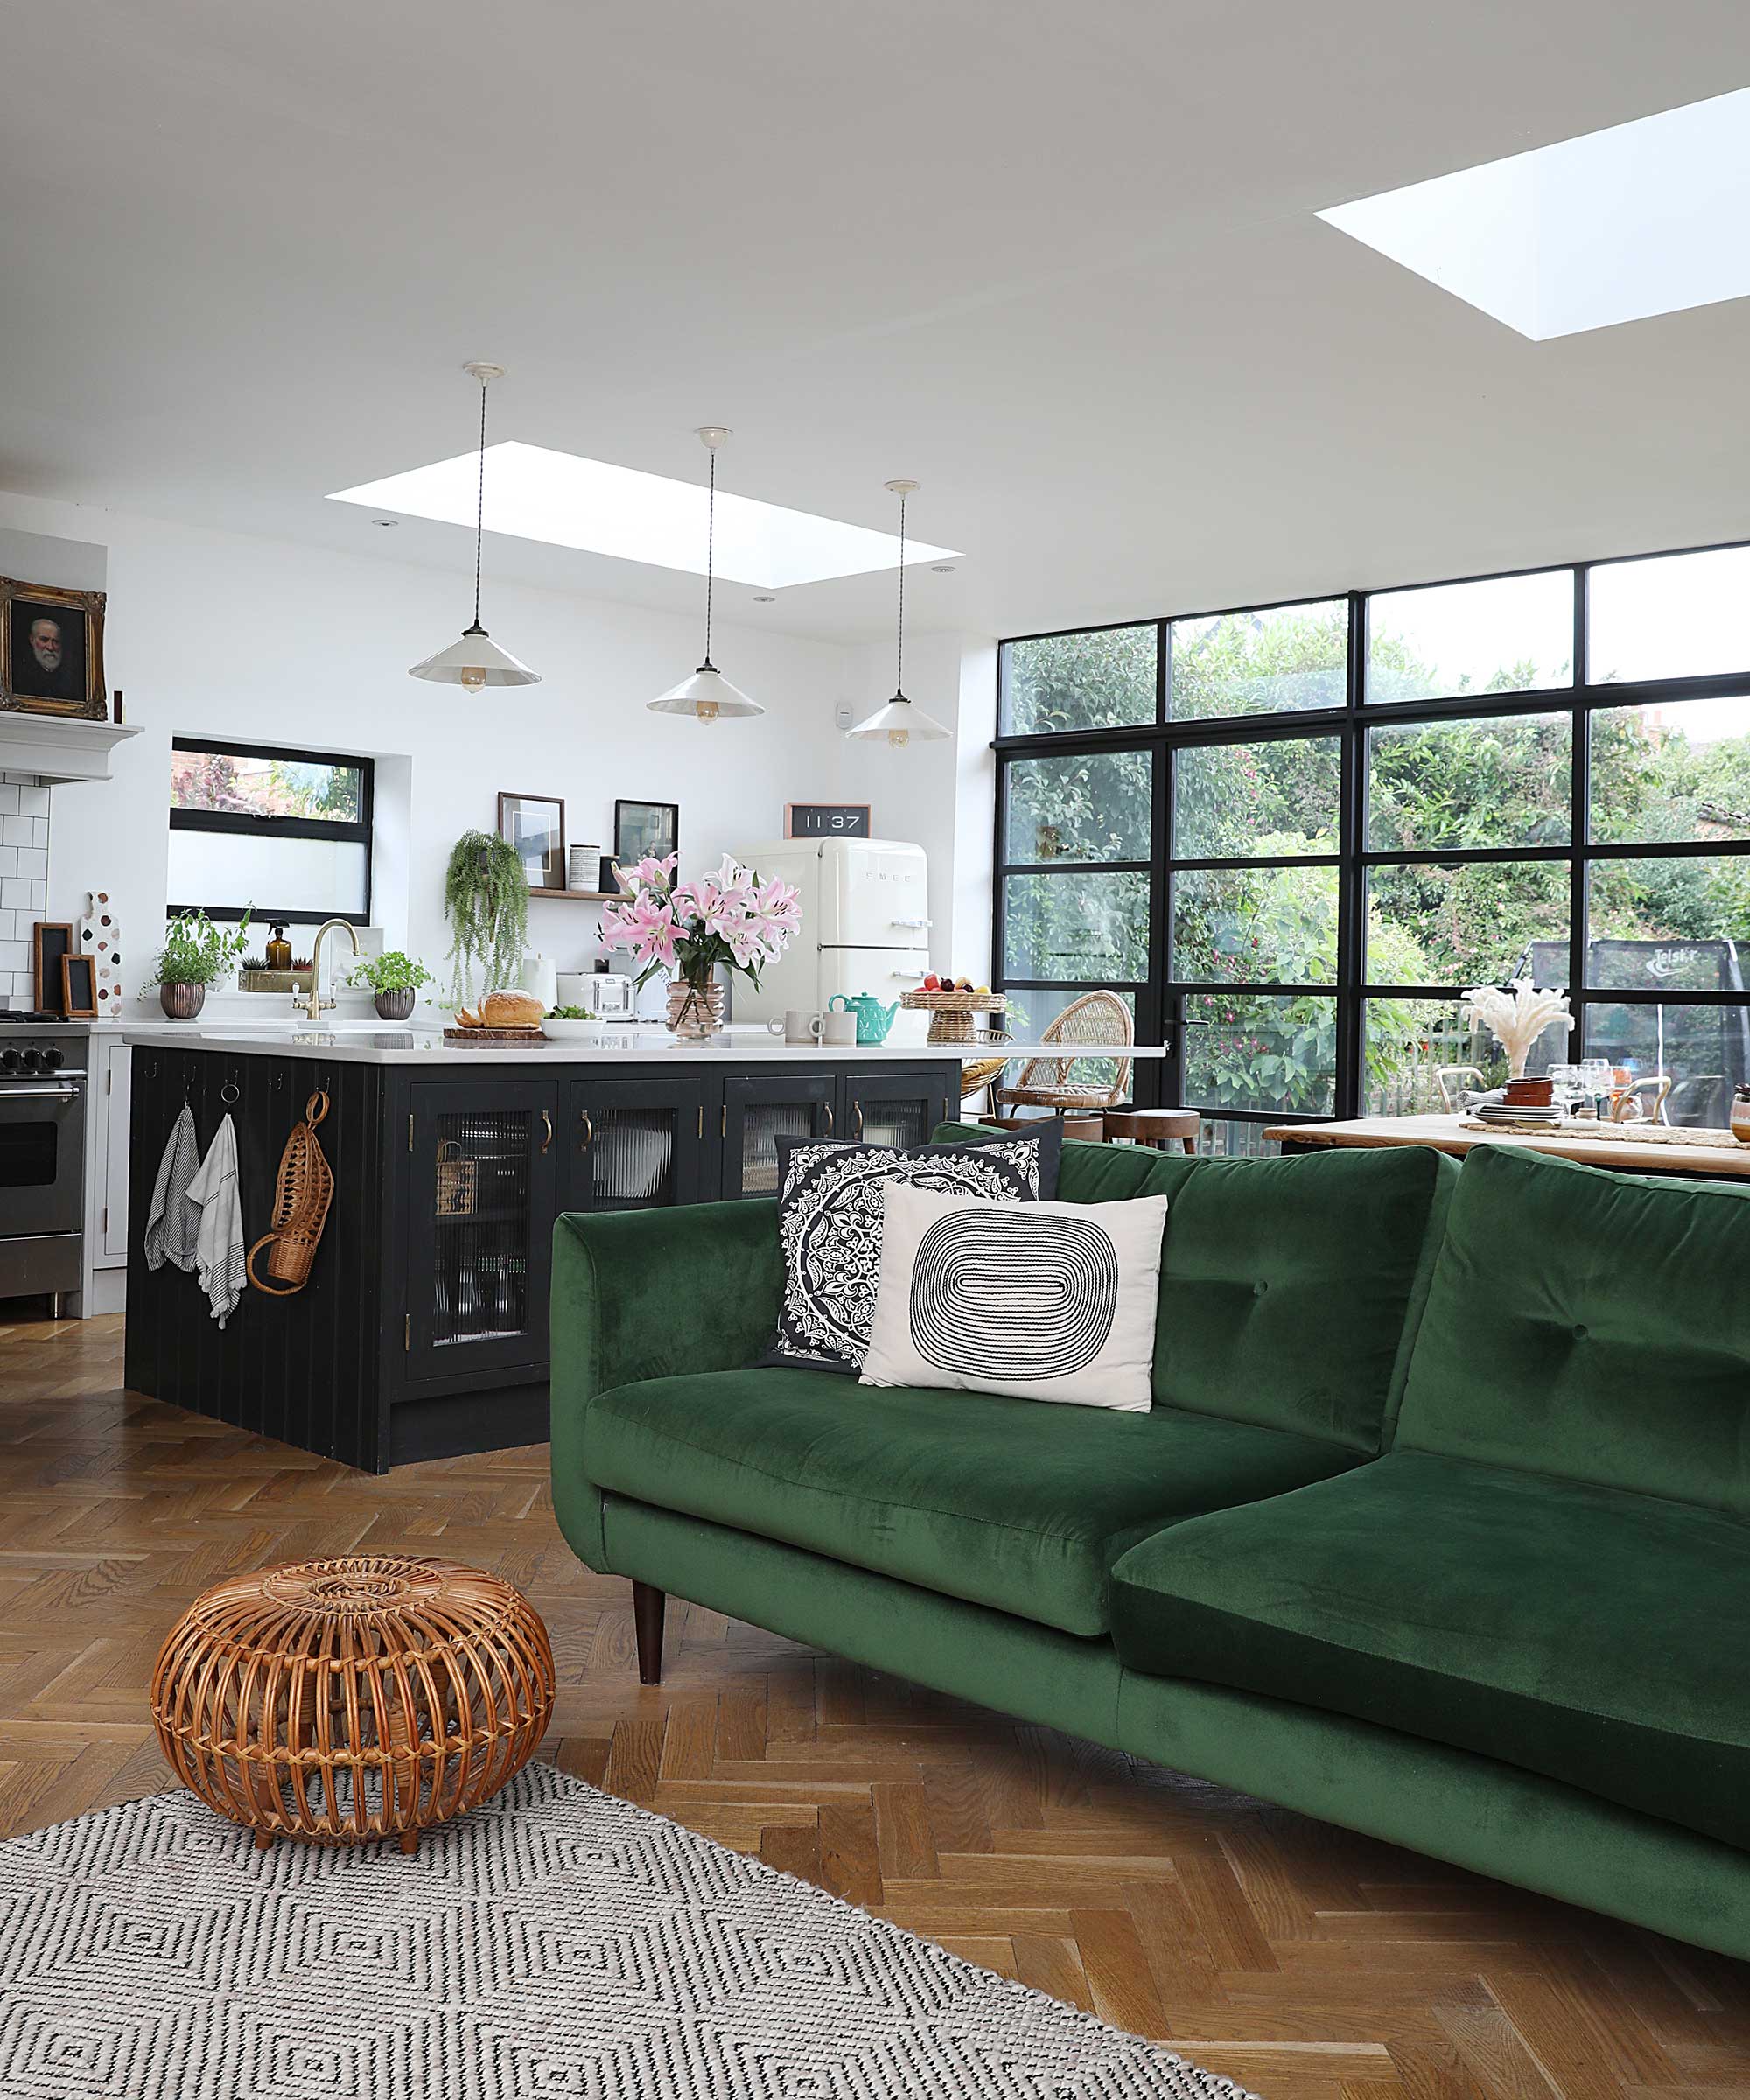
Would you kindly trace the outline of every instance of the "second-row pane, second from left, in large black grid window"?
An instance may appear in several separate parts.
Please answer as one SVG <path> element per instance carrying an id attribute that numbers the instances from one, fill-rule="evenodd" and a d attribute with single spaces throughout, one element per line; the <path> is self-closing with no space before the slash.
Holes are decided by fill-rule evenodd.
<path id="1" fill-rule="evenodd" d="M 1204 743 L 1179 752 L 1172 855 L 1221 861 L 1239 853 L 1282 861 L 1336 853 L 1342 746 L 1336 737 Z"/>

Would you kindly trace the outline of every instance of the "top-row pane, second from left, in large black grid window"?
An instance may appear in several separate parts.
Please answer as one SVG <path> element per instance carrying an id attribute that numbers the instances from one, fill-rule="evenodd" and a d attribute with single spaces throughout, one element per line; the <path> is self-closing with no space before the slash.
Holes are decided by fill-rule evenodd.
<path id="1" fill-rule="evenodd" d="M 1174 722 L 1340 708 L 1347 680 L 1345 598 L 1172 622 L 1166 712 Z"/>

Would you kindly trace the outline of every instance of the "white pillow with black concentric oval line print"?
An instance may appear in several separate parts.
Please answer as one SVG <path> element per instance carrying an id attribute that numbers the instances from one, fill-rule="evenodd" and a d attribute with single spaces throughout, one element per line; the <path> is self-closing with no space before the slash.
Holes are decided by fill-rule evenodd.
<path id="1" fill-rule="evenodd" d="M 866 1386 L 1147 1413 L 1166 1197 L 968 1203 L 889 1182 Z"/>

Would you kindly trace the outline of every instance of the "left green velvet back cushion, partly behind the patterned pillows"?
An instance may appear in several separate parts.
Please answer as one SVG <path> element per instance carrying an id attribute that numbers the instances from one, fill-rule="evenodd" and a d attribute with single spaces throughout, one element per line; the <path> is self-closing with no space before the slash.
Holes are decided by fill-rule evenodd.
<path id="1" fill-rule="evenodd" d="M 1452 1159 L 1412 1144 L 1292 1159 L 1065 1144 L 1057 1195 L 1168 1199 L 1155 1407 L 1376 1453 L 1456 1182 Z"/>

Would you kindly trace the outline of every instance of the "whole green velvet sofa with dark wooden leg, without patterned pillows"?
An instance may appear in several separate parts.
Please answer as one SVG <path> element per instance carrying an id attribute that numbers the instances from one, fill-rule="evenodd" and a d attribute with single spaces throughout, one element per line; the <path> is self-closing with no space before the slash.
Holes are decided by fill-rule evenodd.
<path id="1" fill-rule="evenodd" d="M 672 1592 L 1750 1957 L 1750 1197 L 1095 1144 L 1059 1195 L 1168 1197 L 1147 1415 L 756 1367 L 773 1203 L 559 1220 L 555 1506 L 643 1674 Z"/>

